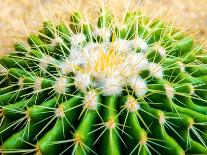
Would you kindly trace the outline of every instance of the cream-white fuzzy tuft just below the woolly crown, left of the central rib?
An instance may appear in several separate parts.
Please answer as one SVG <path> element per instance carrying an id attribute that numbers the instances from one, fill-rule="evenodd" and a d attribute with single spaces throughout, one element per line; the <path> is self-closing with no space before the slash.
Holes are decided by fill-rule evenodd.
<path id="1" fill-rule="evenodd" d="M 96 90 L 90 90 L 84 97 L 84 108 L 88 110 L 96 110 L 98 107 L 98 95 Z"/>

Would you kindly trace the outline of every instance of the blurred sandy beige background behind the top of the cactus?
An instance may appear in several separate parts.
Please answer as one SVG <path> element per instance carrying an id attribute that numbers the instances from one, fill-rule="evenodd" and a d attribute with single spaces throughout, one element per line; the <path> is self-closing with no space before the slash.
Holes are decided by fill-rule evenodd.
<path id="1" fill-rule="evenodd" d="M 71 6 L 86 8 L 95 3 L 97 0 L 0 0 L 0 55 L 11 51 L 12 43 L 24 39 L 25 31 L 38 28 L 51 15 L 68 18 Z M 152 16 L 159 13 L 177 27 L 190 27 L 197 39 L 207 40 L 207 0 L 110 0 L 119 11 L 128 3 Z"/>

